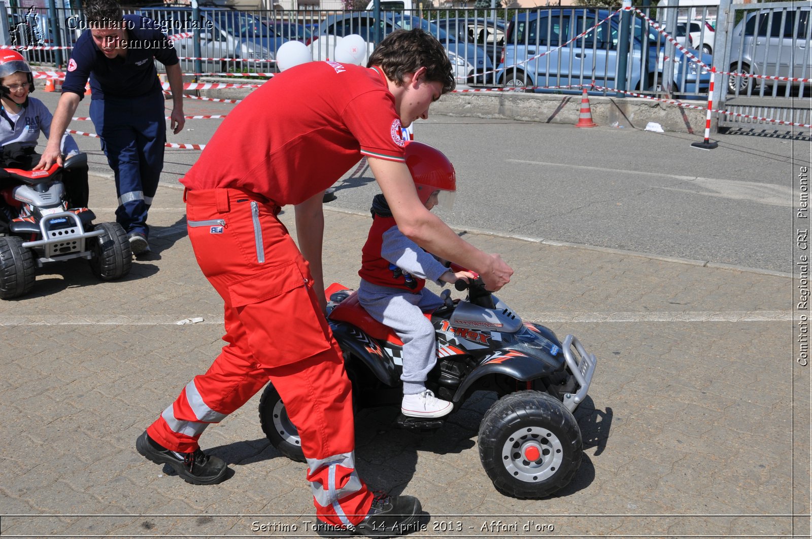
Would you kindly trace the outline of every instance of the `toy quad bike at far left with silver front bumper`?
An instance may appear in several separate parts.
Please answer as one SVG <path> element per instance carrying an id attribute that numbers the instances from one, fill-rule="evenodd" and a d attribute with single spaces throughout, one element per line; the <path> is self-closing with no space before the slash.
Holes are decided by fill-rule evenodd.
<path id="1" fill-rule="evenodd" d="M 64 168 L 86 166 L 80 153 Z M 49 262 L 86 258 L 97 278 L 123 277 L 132 267 L 132 250 L 116 222 L 93 224 L 87 208 L 68 208 L 63 167 L 49 170 L 0 169 L 0 196 L 11 221 L 0 223 L 0 298 L 11 300 L 34 286 L 37 268 Z"/>

